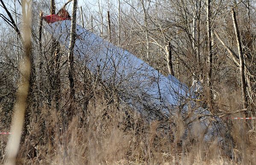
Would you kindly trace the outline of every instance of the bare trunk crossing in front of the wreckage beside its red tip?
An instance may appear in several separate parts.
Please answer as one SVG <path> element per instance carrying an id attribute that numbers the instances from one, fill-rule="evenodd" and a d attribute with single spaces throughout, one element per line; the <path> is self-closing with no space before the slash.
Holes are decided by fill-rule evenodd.
<path id="1" fill-rule="evenodd" d="M 76 22 L 77 22 L 77 0 L 74 0 L 73 4 L 73 12 L 72 12 L 72 20 L 71 20 L 71 29 L 70 29 L 70 43 L 68 47 L 68 79 L 70 86 L 70 99 L 71 105 L 75 100 L 75 88 L 74 88 L 74 46 L 76 40 Z M 70 109 L 70 119 L 73 116 L 73 109 Z"/>

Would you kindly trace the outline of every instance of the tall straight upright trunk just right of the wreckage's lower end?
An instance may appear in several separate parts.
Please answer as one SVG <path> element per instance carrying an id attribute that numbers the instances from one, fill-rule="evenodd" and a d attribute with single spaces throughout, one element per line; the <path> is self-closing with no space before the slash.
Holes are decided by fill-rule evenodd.
<path id="1" fill-rule="evenodd" d="M 212 102 L 212 23 L 211 23 L 211 0 L 206 1 L 206 12 L 207 12 L 207 40 L 208 40 L 208 106 L 210 111 L 213 111 Z"/>

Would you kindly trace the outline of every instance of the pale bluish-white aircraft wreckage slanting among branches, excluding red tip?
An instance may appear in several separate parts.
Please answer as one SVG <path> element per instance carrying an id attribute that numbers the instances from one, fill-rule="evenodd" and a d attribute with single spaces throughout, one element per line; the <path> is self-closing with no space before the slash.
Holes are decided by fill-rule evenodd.
<path id="1" fill-rule="evenodd" d="M 46 26 L 47 31 L 67 48 L 70 28 L 70 20 Z M 120 89 L 122 100 L 144 117 L 150 120 L 181 117 L 187 127 L 184 136 L 202 136 L 203 132 L 204 141 L 215 139 L 227 142 L 224 122 L 211 115 L 206 108 L 196 105 L 193 101 L 194 89 L 188 88 L 172 75 L 165 77 L 127 50 L 79 25 L 76 34 L 74 58 L 83 61 L 85 67 L 99 76 L 106 85 L 112 84 Z"/>

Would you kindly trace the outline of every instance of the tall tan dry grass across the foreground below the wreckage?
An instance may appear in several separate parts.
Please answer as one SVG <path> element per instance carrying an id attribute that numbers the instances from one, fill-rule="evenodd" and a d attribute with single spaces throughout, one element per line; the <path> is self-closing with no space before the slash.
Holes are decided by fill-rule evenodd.
<path id="1" fill-rule="evenodd" d="M 216 141 L 203 142 L 196 137 L 183 138 L 182 121 L 177 128 L 162 127 L 163 122 L 145 122 L 126 105 L 90 102 L 65 130 L 62 117 L 52 108 L 41 108 L 23 137 L 17 164 L 255 164 L 255 136 L 250 134 L 246 147 L 241 134 L 243 122 L 232 123 L 235 142 L 231 160 Z M 65 109 L 68 111 L 68 109 Z M 33 116 L 33 115 L 31 115 Z M 36 115 L 35 115 L 36 116 Z M 167 121 L 170 122 L 170 121 Z M 3 128 L 3 125 L 1 125 Z M 6 135 L 2 135 L 1 149 Z M 1 151 L 2 164 L 3 151 Z"/>

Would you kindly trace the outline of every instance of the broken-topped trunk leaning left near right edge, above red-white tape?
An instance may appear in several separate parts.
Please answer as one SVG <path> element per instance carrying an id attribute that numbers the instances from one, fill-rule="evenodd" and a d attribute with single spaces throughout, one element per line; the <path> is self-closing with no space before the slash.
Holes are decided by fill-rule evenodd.
<path id="1" fill-rule="evenodd" d="M 243 49 L 241 46 L 241 39 L 238 31 L 238 25 L 237 25 L 234 9 L 232 9 L 232 19 L 233 19 L 234 28 L 235 28 L 235 37 L 236 37 L 236 43 L 237 43 L 238 55 L 239 55 L 242 100 L 243 100 L 244 109 L 246 109 L 248 105 L 247 105 L 246 82 L 245 82 L 245 74 L 244 74 L 244 55 L 243 55 Z M 246 115 L 248 116 L 247 111 L 246 111 Z"/>

